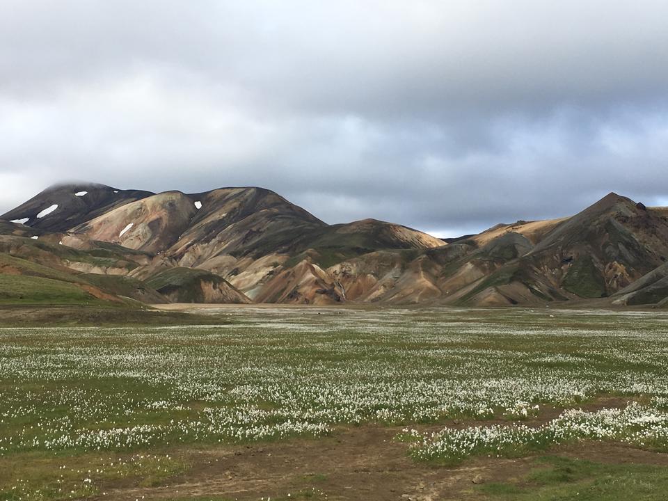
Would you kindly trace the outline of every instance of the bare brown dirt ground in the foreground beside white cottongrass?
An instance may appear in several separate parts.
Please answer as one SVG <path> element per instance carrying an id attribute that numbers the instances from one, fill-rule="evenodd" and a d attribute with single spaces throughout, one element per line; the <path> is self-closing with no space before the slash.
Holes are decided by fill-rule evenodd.
<path id="1" fill-rule="evenodd" d="M 299 498 L 310 491 L 313 499 L 328 500 L 479 500 L 476 484 L 521 477 L 533 461 L 473 458 L 456 468 L 417 463 L 406 454 L 406 444 L 393 440 L 399 431 L 368 426 L 319 439 L 182 450 L 178 455 L 191 468 L 167 486 L 112 489 L 100 499 L 288 499 L 288 494 Z M 554 452 L 594 461 L 668 466 L 667 454 L 616 444 L 581 444 Z"/>

